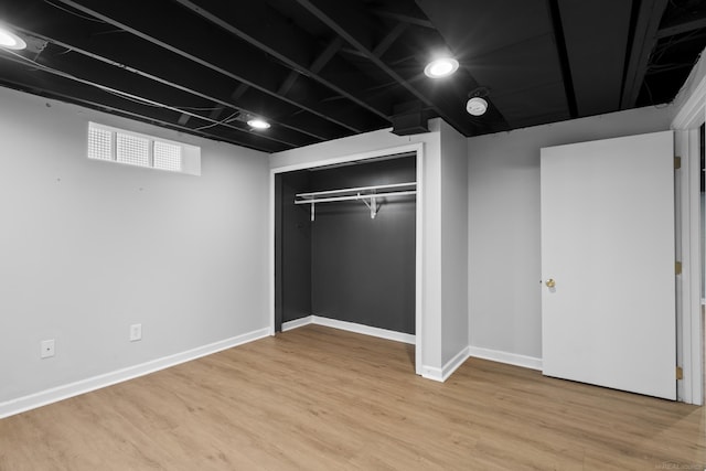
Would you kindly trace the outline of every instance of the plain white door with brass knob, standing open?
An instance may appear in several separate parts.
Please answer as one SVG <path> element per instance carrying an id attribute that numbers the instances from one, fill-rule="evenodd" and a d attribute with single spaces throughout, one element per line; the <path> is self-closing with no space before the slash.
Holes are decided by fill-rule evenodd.
<path id="1" fill-rule="evenodd" d="M 545 375 L 676 398 L 673 149 L 671 131 L 542 149 Z"/>

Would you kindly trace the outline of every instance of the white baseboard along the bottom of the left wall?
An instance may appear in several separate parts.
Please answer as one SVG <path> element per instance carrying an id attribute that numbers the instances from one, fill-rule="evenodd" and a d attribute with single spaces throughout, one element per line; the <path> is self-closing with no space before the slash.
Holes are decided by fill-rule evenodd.
<path id="1" fill-rule="evenodd" d="M 0 403 L 0 419 L 269 336 L 269 328 Z"/>

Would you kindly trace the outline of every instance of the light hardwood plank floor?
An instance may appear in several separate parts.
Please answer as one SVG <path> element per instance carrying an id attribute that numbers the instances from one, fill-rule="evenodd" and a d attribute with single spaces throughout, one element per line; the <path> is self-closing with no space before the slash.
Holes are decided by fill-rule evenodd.
<path id="1" fill-rule="evenodd" d="M 474 358 L 440 384 L 413 358 L 309 325 L 0 420 L 0 470 L 706 465 L 705 408 Z"/>

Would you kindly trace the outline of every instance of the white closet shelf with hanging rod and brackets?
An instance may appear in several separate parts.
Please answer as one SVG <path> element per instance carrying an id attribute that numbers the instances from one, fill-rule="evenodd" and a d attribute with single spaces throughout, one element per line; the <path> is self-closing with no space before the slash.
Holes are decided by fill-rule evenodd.
<path id="1" fill-rule="evenodd" d="M 317 203 L 331 203 L 336 201 L 362 201 L 371 210 L 371 218 L 374 220 L 377 215 L 377 211 L 379 210 L 377 199 L 406 196 L 411 194 L 417 194 L 416 182 L 359 186 L 352 189 L 317 191 L 311 193 L 297 193 L 295 195 L 295 204 L 310 204 L 311 221 L 314 221 L 314 207 Z"/>

